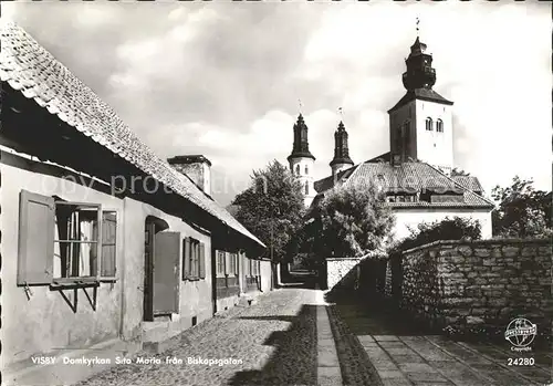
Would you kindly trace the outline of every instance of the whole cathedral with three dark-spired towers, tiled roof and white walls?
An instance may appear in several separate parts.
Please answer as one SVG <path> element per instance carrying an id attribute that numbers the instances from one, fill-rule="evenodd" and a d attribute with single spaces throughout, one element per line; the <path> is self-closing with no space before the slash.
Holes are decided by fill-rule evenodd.
<path id="1" fill-rule="evenodd" d="M 310 174 L 315 157 L 309 152 L 307 126 L 300 114 L 294 125 L 290 168 L 305 187 L 311 209 L 331 189 L 376 184 L 396 216 L 395 236 L 409 234 L 418 223 L 462 217 L 479 220 L 482 238 L 491 238 L 493 202 L 484 198 L 474 176 L 453 171 L 453 102 L 432 87 L 436 70 L 427 45 L 417 36 L 410 46 L 403 74 L 405 95 L 388 111 L 389 152 L 361 164 L 349 158 L 348 134 L 343 122 L 334 133 L 331 174 L 314 180 Z"/>

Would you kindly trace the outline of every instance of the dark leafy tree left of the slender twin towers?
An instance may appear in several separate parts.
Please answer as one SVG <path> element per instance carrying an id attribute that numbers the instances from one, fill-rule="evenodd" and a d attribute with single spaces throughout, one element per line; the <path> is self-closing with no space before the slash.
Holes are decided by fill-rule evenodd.
<path id="1" fill-rule="evenodd" d="M 291 240 L 301 228 L 304 206 L 301 182 L 274 160 L 253 170 L 252 185 L 232 201 L 237 220 L 273 250 L 273 261 L 289 255 Z"/>

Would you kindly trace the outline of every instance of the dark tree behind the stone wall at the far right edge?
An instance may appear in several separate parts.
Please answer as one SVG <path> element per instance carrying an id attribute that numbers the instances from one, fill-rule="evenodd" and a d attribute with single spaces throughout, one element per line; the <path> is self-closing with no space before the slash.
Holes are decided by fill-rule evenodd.
<path id="1" fill-rule="evenodd" d="M 551 192 L 535 190 L 533 180 L 515 176 L 511 186 L 493 188 L 492 198 L 498 202 L 492 212 L 494 236 L 551 236 Z"/>

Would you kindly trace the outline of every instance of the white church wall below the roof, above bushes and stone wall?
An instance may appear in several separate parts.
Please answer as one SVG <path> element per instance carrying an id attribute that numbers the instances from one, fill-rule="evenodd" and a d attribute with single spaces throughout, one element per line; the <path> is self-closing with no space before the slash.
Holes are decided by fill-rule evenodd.
<path id="1" fill-rule="evenodd" d="M 482 227 L 482 239 L 490 239 L 491 234 L 491 211 L 489 210 L 436 210 L 436 209 L 394 209 L 396 225 L 394 227 L 395 238 L 401 239 L 410 234 L 408 226 L 416 228 L 420 222 L 441 221 L 446 217 L 461 217 L 479 220 Z"/>

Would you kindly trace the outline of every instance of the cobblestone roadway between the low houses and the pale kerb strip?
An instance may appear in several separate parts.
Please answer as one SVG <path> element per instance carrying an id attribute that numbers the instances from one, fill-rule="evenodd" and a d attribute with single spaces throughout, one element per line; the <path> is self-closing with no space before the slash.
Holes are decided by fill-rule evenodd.
<path id="1" fill-rule="evenodd" d="M 316 293 L 303 288 L 269 292 L 252 306 L 233 307 L 176 336 L 173 348 L 159 355 L 137 355 L 161 364 L 115 365 L 79 385 L 316 385 Z M 165 364 L 166 357 L 185 364 Z M 186 364 L 188 357 L 241 363 Z"/>

